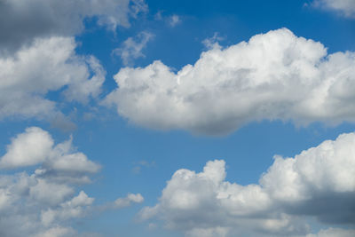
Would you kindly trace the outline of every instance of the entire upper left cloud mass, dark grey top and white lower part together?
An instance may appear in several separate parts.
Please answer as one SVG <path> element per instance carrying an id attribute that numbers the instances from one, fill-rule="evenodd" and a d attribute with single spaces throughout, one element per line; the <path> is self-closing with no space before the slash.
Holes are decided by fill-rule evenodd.
<path id="1" fill-rule="evenodd" d="M 58 102 L 97 98 L 106 76 L 98 59 L 75 53 L 74 36 L 84 20 L 115 31 L 146 11 L 144 0 L 0 0 L 0 120 L 36 117 L 73 129 Z"/>

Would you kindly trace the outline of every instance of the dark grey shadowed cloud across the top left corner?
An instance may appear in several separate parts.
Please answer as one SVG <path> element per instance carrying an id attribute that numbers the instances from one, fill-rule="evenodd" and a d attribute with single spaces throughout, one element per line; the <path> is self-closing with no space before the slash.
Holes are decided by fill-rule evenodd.
<path id="1" fill-rule="evenodd" d="M 130 17 L 146 12 L 143 0 L 2 0 L 0 2 L 0 51 L 14 51 L 36 37 L 74 36 L 85 18 L 114 30 L 129 27 Z"/>

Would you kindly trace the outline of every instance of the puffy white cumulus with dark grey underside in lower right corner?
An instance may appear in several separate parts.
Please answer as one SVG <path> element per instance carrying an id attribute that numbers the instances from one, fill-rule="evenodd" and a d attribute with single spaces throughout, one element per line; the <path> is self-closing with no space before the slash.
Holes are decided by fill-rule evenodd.
<path id="1" fill-rule="evenodd" d="M 348 236 L 328 229 L 312 235 L 308 219 L 355 223 L 355 133 L 326 140 L 295 157 L 275 156 L 258 184 L 225 181 L 225 162 L 203 171 L 177 170 L 142 219 L 162 219 L 186 236 Z"/>

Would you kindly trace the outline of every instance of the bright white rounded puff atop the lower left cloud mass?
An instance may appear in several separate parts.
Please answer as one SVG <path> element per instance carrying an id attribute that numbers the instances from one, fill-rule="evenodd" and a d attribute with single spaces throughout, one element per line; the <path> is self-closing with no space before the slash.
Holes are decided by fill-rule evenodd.
<path id="1" fill-rule="evenodd" d="M 31 127 L 12 138 L 7 153 L 0 158 L 0 168 L 17 169 L 43 163 L 36 175 L 83 175 L 96 173 L 99 165 L 87 159 L 83 153 L 75 152 L 72 138 L 53 146 L 51 135 L 40 128 Z"/>

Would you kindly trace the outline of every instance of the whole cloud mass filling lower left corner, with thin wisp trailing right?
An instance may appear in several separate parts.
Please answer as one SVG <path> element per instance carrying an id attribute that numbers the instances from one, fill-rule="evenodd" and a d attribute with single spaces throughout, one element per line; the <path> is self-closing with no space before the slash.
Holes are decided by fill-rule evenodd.
<path id="1" fill-rule="evenodd" d="M 1 236 L 81 236 L 70 226 L 70 220 L 106 210 L 107 204 L 94 206 L 94 198 L 76 190 L 89 183 L 100 166 L 77 152 L 72 138 L 54 145 L 51 135 L 37 127 L 12 138 L 0 158 L 0 169 L 31 167 L 36 168 L 32 174 L 22 171 L 0 175 Z M 109 208 L 120 209 L 142 201 L 140 194 L 128 194 L 109 204 Z"/>

